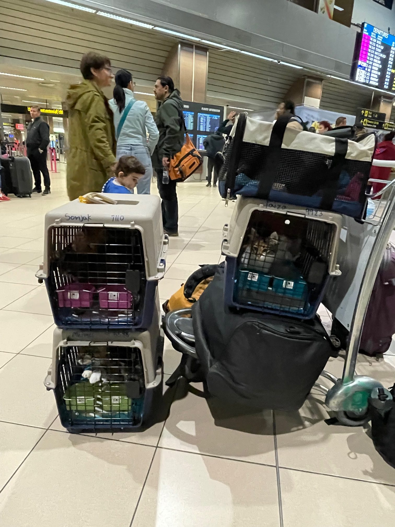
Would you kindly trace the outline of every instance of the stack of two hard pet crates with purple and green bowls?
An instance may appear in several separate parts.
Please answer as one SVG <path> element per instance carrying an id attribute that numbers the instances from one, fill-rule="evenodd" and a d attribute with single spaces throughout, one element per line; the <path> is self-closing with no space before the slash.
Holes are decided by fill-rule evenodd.
<path id="1" fill-rule="evenodd" d="M 45 281 L 57 328 L 45 379 L 70 432 L 141 426 L 162 395 L 160 199 L 112 194 L 45 216 Z"/>

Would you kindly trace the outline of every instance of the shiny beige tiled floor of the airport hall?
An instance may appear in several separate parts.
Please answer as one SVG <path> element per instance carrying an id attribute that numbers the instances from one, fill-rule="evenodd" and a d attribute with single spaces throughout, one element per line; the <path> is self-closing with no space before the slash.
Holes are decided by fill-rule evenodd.
<path id="1" fill-rule="evenodd" d="M 390 524 L 395 471 L 363 428 L 328 426 L 322 397 L 299 412 L 242 414 L 180 382 L 163 417 L 141 433 L 70 435 L 43 385 L 53 319 L 34 272 L 43 218 L 66 200 L 64 173 L 50 197 L 0 203 L 0 525 L 2 527 L 371 527 Z M 153 188 L 154 191 L 154 188 Z M 170 240 L 160 297 L 198 264 L 220 260 L 224 207 L 203 183 L 179 186 L 180 238 Z M 331 319 L 320 308 L 324 324 Z M 168 340 L 166 378 L 180 356 Z M 342 358 L 327 369 L 341 375 Z M 395 343 L 358 373 L 395 380 Z M 323 380 L 323 383 L 325 380 Z M 167 408 L 171 405 L 169 416 Z"/>

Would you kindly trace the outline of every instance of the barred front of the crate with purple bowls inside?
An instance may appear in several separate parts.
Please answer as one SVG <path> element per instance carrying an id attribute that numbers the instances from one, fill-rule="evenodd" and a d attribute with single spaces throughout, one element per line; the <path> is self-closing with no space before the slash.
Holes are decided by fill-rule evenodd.
<path id="1" fill-rule="evenodd" d="M 47 289 L 58 326 L 139 325 L 147 292 L 141 232 L 124 227 L 52 226 Z M 151 291 L 151 289 L 153 289 Z"/>

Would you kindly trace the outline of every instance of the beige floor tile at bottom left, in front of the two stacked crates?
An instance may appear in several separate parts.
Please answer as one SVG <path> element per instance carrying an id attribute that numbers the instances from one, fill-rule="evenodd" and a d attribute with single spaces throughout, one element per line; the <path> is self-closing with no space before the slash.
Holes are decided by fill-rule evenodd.
<path id="1" fill-rule="evenodd" d="M 129 527 L 153 454 L 150 446 L 48 431 L 0 494 L 0 524 Z"/>

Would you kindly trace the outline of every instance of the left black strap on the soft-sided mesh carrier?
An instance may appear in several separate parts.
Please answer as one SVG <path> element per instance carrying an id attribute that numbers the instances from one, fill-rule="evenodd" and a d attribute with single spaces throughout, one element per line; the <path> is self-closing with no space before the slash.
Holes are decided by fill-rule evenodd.
<path id="1" fill-rule="evenodd" d="M 259 159 L 256 163 L 257 167 L 263 163 L 261 178 L 259 181 L 257 198 L 269 199 L 270 191 L 273 187 L 274 178 L 277 174 L 281 160 L 281 145 L 284 139 L 284 133 L 287 129 L 288 123 L 291 119 L 294 119 L 295 115 L 286 113 L 281 115 L 278 120 L 273 124 L 272 133 L 270 135 L 269 149 L 262 152 L 262 156 L 265 159 Z"/>

